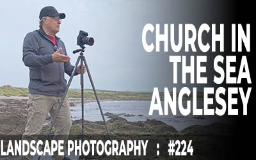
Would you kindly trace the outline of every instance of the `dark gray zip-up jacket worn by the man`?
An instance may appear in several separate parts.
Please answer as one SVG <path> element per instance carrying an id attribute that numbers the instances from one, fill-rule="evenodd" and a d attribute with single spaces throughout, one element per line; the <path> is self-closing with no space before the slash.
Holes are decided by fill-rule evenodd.
<path id="1" fill-rule="evenodd" d="M 60 54 L 67 55 L 64 43 L 55 37 L 57 47 L 62 48 Z M 29 93 L 58 97 L 64 94 L 67 87 L 64 72 L 71 76 L 74 66 L 70 61 L 53 61 L 52 54 L 55 50 L 54 44 L 42 28 L 28 33 L 24 38 L 22 60 L 29 67 Z"/>

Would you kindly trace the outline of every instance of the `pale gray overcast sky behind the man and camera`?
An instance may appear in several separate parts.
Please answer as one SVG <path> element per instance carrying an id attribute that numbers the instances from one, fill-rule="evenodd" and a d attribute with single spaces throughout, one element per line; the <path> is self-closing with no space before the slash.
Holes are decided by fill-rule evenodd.
<path id="1" fill-rule="evenodd" d="M 64 12 L 57 34 L 66 45 L 71 63 L 78 54 L 76 37 L 79 30 L 93 36 L 95 44 L 86 46 L 86 60 L 95 87 L 101 90 L 152 91 L 154 87 L 172 86 L 170 53 L 147 53 L 141 43 L 147 23 L 186 23 L 191 16 L 200 17 L 192 4 L 179 1 L 4 1 L 0 6 L 0 86 L 10 84 L 28 87 L 29 70 L 22 62 L 22 43 L 26 33 L 38 29 L 38 15 L 44 6 Z M 194 4 L 195 5 L 195 4 Z M 191 15 L 193 13 L 193 15 Z M 209 12 L 211 15 L 211 12 Z M 151 37 L 154 39 L 154 36 Z M 150 38 L 148 38 L 150 40 Z M 163 49 L 163 45 L 161 45 Z M 68 76 L 66 76 L 68 80 Z M 70 88 L 79 88 L 75 77 Z M 88 77 L 85 87 L 91 88 Z"/>

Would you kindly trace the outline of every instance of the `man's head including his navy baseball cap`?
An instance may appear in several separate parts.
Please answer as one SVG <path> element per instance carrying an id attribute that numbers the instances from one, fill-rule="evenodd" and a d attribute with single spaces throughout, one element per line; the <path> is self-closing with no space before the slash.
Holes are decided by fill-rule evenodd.
<path id="1" fill-rule="evenodd" d="M 39 19 L 40 28 L 53 35 L 60 31 L 61 19 L 65 19 L 65 13 L 58 13 L 53 6 L 45 6 L 42 8 Z"/>

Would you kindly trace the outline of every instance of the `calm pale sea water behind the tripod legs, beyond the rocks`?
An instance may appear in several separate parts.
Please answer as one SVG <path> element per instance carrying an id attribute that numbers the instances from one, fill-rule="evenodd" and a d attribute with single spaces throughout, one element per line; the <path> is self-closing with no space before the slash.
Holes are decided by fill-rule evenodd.
<path id="1" fill-rule="evenodd" d="M 161 101 L 162 106 L 164 102 Z M 103 113 L 119 114 L 121 117 L 128 121 L 145 121 L 147 119 L 161 120 L 168 125 L 172 125 L 178 131 L 185 129 L 190 125 L 209 125 L 213 122 L 232 123 L 230 116 L 182 116 L 178 111 L 177 115 L 173 116 L 169 109 L 168 116 L 159 116 L 157 111 L 153 112 L 152 116 L 148 115 L 150 101 L 141 100 L 128 100 L 128 101 L 106 101 L 100 102 Z M 186 102 L 183 102 L 184 108 L 186 108 Z M 203 108 L 203 101 L 198 100 L 197 108 Z M 71 109 L 72 120 L 78 120 L 82 118 L 81 104 L 76 104 Z M 105 116 L 106 120 L 109 120 L 108 116 Z M 84 120 L 89 121 L 102 121 L 100 109 L 97 102 L 84 102 Z"/>

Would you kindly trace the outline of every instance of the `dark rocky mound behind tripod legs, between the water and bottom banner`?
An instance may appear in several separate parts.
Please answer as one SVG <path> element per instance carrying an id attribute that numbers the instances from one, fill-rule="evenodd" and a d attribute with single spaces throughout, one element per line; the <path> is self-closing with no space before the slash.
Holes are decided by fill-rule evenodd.
<path id="1" fill-rule="evenodd" d="M 114 134 L 167 134 L 177 133 L 172 126 L 158 120 L 147 120 L 145 122 L 128 122 L 125 118 L 114 116 L 107 121 L 108 129 Z M 81 134 L 81 120 L 72 123 L 70 134 Z M 106 128 L 102 121 L 89 122 L 84 120 L 84 134 L 106 134 Z"/>

